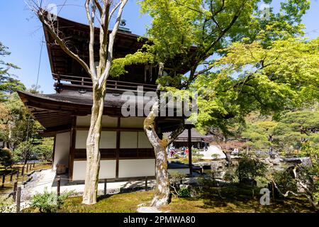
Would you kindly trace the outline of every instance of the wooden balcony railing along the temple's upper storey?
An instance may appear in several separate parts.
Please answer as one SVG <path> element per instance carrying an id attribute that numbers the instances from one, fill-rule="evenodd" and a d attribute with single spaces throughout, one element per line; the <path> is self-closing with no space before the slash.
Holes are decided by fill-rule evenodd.
<path id="1" fill-rule="evenodd" d="M 53 74 L 53 78 L 57 80 L 55 87 L 75 87 L 75 88 L 83 88 L 83 89 L 91 89 L 92 80 L 89 77 L 77 77 L 63 74 Z M 65 83 L 68 82 L 68 83 Z M 123 82 L 117 80 L 108 79 L 106 88 L 108 90 L 113 91 L 133 91 L 137 92 L 138 88 L 142 87 L 143 92 L 155 92 L 157 89 L 157 85 L 155 84 L 142 84 L 135 82 Z"/>

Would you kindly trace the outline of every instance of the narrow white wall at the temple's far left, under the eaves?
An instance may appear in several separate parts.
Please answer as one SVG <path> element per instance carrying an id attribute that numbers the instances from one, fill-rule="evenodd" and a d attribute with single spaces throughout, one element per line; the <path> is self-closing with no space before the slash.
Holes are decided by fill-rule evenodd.
<path id="1" fill-rule="evenodd" d="M 57 164 L 69 167 L 69 146 L 70 133 L 59 133 L 55 138 L 55 160 L 53 169 L 56 170 Z"/>

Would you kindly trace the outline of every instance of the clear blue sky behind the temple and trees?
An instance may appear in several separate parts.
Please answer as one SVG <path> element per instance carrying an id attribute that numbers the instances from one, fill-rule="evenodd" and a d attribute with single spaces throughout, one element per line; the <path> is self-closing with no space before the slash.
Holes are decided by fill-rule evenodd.
<path id="1" fill-rule="evenodd" d="M 43 0 L 47 4 L 62 6 L 65 0 Z M 276 0 L 274 0 L 276 1 Z M 126 27 L 138 35 L 144 35 L 151 18 L 141 16 L 140 8 L 135 0 L 129 0 L 125 6 L 123 18 Z M 86 23 L 84 0 L 67 0 L 65 6 L 58 9 L 59 16 L 72 21 Z M 319 36 L 319 1 L 311 1 L 310 10 L 303 17 L 306 24 L 306 35 L 309 38 Z M 9 47 L 11 55 L 6 57 L 6 62 L 11 62 L 21 67 L 21 70 L 12 70 L 18 79 L 31 87 L 36 83 L 40 57 L 43 29 L 37 18 L 30 12 L 23 0 L 0 0 L 0 41 Z M 45 94 L 54 93 L 54 80 L 52 79 L 50 63 L 46 46 L 43 45 L 43 53 L 40 65 L 40 78 L 38 84 Z"/>

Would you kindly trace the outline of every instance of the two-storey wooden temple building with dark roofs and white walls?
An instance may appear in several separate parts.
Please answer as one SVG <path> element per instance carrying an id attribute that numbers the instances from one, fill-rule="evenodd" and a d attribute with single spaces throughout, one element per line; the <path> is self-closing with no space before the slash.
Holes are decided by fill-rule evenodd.
<path id="1" fill-rule="evenodd" d="M 57 18 L 55 26 L 67 38 L 67 45 L 89 62 L 89 26 L 65 18 Z M 82 181 L 86 172 L 86 137 L 89 131 L 92 106 L 91 79 L 82 66 L 69 57 L 44 28 L 47 52 L 55 80 L 55 94 L 30 94 L 18 92 L 21 100 L 33 117 L 45 128 L 43 136 L 54 137 L 53 168 L 64 165 L 71 181 Z M 116 35 L 114 57 L 125 57 L 139 50 L 145 39 L 138 40 L 128 29 L 120 29 Z M 96 57 L 99 56 L 99 28 L 96 28 Z M 96 59 L 98 62 L 99 59 Z M 128 179 L 154 177 L 155 154 L 145 132 L 145 116 L 124 117 L 121 109 L 125 100 L 123 92 L 137 94 L 155 92 L 158 68 L 152 65 L 130 65 L 128 73 L 110 77 L 104 101 L 101 132 L 100 179 Z M 172 70 L 165 69 L 165 70 Z M 177 73 L 185 73 L 187 70 Z M 145 106 L 147 100 L 136 99 L 138 106 Z M 139 105 L 140 104 L 140 105 Z M 181 117 L 158 119 L 159 133 L 167 133 L 184 121 Z"/>

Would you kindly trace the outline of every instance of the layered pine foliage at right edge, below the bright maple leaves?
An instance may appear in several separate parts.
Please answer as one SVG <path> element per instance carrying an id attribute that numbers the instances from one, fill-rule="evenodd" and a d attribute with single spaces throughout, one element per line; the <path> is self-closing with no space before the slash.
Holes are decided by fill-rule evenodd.
<path id="1" fill-rule="evenodd" d="M 300 150 L 306 141 L 319 143 L 318 107 L 284 111 L 272 118 L 256 114 L 246 118 L 245 130 L 241 133 L 247 140 L 246 145 L 254 149 L 272 146 L 276 150 L 291 153 Z"/>

